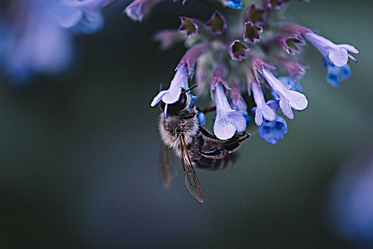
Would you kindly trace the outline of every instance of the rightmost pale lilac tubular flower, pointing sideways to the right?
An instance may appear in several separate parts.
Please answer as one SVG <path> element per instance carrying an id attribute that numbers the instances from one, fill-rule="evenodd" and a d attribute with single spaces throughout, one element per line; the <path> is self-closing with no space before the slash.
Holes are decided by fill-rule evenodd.
<path id="1" fill-rule="evenodd" d="M 337 67 L 346 65 L 349 57 L 357 62 L 357 60 L 348 53 L 359 53 L 354 46 L 349 44 L 335 44 L 312 32 L 304 33 L 303 36 L 320 51 L 322 56 L 330 60 Z"/>

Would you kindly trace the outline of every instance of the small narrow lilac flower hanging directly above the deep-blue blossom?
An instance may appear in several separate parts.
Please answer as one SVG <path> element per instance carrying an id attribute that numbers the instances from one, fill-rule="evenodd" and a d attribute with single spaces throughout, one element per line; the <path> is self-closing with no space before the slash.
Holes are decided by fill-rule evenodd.
<path id="1" fill-rule="evenodd" d="M 256 124 L 258 124 L 258 126 L 261 126 L 261 124 L 263 124 L 263 119 L 268 121 L 275 120 L 275 112 L 266 104 L 266 100 L 264 100 L 264 95 L 261 90 L 261 86 L 256 83 L 253 83 L 251 84 L 251 90 L 253 91 L 254 101 L 256 102 Z"/>

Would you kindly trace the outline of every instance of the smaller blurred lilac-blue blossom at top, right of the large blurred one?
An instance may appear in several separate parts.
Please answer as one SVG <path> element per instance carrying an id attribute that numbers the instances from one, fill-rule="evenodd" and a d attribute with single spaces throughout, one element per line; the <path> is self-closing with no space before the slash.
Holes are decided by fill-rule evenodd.
<path id="1" fill-rule="evenodd" d="M 74 28 L 79 33 L 95 33 L 103 28 L 101 9 L 115 0 L 63 0 L 56 17 L 62 28 Z"/>

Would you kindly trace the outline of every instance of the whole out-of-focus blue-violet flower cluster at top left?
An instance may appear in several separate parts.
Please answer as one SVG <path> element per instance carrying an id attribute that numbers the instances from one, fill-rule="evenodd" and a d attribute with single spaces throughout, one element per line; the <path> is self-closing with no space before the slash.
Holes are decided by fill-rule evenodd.
<path id="1" fill-rule="evenodd" d="M 1 4 L 0 69 L 14 83 L 58 73 L 73 58 L 73 36 L 103 28 L 101 9 L 115 0 L 12 0 Z"/>

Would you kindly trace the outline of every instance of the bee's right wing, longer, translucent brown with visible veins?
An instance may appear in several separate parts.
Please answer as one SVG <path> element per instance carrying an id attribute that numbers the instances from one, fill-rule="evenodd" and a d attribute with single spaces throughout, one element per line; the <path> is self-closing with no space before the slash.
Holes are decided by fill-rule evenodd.
<path id="1" fill-rule="evenodd" d="M 201 203 L 204 203 L 204 195 L 201 191 L 201 186 L 199 185 L 196 172 L 191 165 L 191 159 L 189 157 L 189 152 L 187 149 L 187 144 L 185 144 L 184 134 L 179 135 L 180 140 L 180 158 L 182 159 L 182 165 L 184 169 L 185 185 L 189 189 L 190 193 Z"/>

